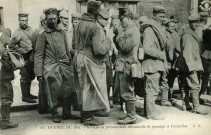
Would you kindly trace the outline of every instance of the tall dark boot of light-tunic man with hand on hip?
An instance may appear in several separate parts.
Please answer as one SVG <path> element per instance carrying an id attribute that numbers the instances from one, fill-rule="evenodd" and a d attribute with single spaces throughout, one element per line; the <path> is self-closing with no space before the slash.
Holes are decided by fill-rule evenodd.
<path id="1" fill-rule="evenodd" d="M 22 81 L 21 80 L 21 91 L 22 91 L 22 101 L 28 102 L 28 103 L 36 103 L 35 100 L 29 97 L 29 82 L 28 81 Z"/>

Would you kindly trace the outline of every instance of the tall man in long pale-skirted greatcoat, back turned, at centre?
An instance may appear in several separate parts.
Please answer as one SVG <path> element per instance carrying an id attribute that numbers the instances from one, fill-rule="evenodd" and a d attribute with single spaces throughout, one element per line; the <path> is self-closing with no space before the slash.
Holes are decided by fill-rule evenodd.
<path id="1" fill-rule="evenodd" d="M 111 39 L 96 24 L 100 1 L 89 1 L 87 13 L 81 17 L 73 32 L 74 81 L 81 106 L 81 122 L 87 126 L 104 124 L 94 119 L 96 110 L 110 110 L 106 87 L 105 57 L 111 48 Z M 106 22 L 104 18 L 98 18 Z"/>

